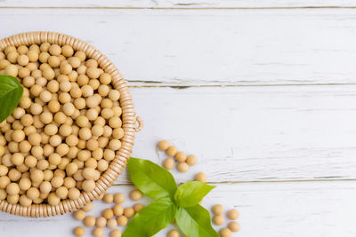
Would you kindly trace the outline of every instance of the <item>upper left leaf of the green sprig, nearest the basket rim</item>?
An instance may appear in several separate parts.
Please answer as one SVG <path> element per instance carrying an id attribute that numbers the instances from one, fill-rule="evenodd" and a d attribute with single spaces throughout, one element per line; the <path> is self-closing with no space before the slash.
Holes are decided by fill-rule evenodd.
<path id="1" fill-rule="evenodd" d="M 169 171 L 154 162 L 133 157 L 127 162 L 127 170 L 134 185 L 143 194 L 156 200 L 163 198 L 173 200 L 177 185 Z"/>

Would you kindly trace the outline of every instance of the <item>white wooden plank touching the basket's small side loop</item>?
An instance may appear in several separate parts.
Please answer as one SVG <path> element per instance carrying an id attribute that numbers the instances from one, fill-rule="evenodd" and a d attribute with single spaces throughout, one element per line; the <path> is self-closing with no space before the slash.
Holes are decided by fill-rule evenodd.
<path id="1" fill-rule="evenodd" d="M 355 179 L 356 86 L 132 89 L 145 127 L 134 157 L 161 163 L 166 138 L 211 182 Z M 117 181 L 127 184 L 124 173 Z"/>

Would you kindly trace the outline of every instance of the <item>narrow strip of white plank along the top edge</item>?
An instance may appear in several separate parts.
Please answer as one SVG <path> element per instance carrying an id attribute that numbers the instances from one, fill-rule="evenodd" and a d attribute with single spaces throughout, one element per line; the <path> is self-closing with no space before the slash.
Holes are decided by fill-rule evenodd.
<path id="1" fill-rule="evenodd" d="M 57 2 L 49 2 L 45 0 L 4 0 L 0 7 L 105 7 L 105 8 L 295 8 L 295 7 L 351 7 L 355 6 L 352 0 L 298 0 L 298 1 L 251 1 L 251 0 L 88 0 L 88 1 L 69 1 L 62 0 Z"/>

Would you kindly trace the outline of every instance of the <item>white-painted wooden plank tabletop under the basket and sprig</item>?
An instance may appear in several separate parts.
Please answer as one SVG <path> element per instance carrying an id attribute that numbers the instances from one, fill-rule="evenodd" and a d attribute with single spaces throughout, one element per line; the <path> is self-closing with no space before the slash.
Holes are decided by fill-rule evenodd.
<path id="1" fill-rule="evenodd" d="M 204 205 L 240 211 L 233 236 L 354 237 L 354 7 L 352 0 L 2 0 L 0 36 L 58 31 L 109 56 L 145 122 L 133 156 L 162 162 L 161 138 L 197 154 L 198 165 L 174 176 L 182 182 L 206 171 L 217 188 Z M 124 173 L 110 191 L 131 189 Z M 77 225 L 70 215 L 0 214 L 0 236 L 70 236 Z"/>

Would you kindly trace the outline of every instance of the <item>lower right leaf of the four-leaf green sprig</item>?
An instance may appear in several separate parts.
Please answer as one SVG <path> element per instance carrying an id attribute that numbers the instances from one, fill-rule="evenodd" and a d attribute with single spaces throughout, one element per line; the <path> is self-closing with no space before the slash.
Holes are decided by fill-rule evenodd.
<path id="1" fill-rule="evenodd" d="M 219 237 L 211 225 L 209 211 L 200 205 L 180 207 L 175 220 L 182 232 L 189 237 Z"/>

